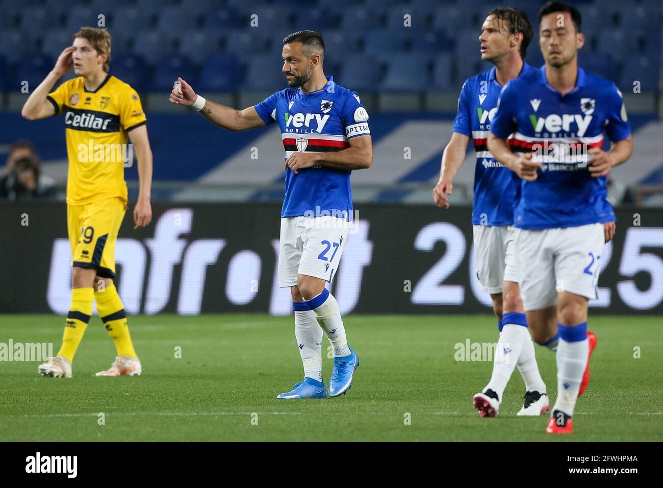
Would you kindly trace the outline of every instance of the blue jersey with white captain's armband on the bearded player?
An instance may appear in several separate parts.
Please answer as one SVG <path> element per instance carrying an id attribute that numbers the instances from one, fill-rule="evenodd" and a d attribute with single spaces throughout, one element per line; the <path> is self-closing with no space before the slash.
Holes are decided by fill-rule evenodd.
<path id="1" fill-rule="evenodd" d="M 267 124 L 277 122 L 288 159 L 303 153 L 342 151 L 348 139 L 370 134 L 368 113 L 357 92 L 335 84 L 332 76 L 322 90 L 306 94 L 301 88 L 286 88 L 255 106 Z M 350 170 L 322 165 L 286 169 L 282 217 L 344 216 L 352 219 Z"/>

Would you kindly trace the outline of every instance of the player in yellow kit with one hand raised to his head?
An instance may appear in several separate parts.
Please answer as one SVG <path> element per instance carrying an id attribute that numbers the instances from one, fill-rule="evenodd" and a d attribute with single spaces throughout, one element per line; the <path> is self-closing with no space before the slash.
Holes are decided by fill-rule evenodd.
<path id="1" fill-rule="evenodd" d="M 72 376 L 72 360 L 80 344 L 93 302 L 117 348 L 111 368 L 97 376 L 141 374 L 133 349 L 124 305 L 113 284 L 115 242 L 127 210 L 124 164 L 135 151 L 139 197 L 134 228 L 152 220 L 150 204 L 152 151 L 141 100 L 131 86 L 108 74 L 111 36 L 105 29 L 84 27 L 60 54 L 53 70 L 30 94 L 21 114 L 38 120 L 64 114 L 69 173 L 67 225 L 72 247 L 72 305 L 58 356 L 40 365 L 44 376 Z M 70 68 L 77 78 L 54 84 Z M 131 145 L 127 145 L 127 136 Z M 132 147 L 133 146 L 133 147 Z"/>

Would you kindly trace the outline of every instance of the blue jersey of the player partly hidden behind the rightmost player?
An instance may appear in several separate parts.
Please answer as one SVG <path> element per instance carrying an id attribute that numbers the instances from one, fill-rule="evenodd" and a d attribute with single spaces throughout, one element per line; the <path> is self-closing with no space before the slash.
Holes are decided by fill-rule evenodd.
<path id="1" fill-rule="evenodd" d="M 518 76 L 536 71 L 523 63 Z M 488 151 L 488 131 L 497 112 L 502 85 L 495 78 L 495 68 L 468 78 L 458 98 L 458 112 L 453 131 L 474 141 L 477 163 L 474 171 L 474 204 L 472 223 L 475 225 L 511 225 L 513 207 L 518 197 L 518 175 Z"/>

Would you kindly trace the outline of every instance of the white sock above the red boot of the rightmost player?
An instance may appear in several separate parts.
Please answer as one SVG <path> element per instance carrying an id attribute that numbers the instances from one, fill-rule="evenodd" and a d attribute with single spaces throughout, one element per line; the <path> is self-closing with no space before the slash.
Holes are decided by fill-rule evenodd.
<path id="1" fill-rule="evenodd" d="M 561 410 L 573 416 L 588 356 L 589 342 L 586 337 L 582 341 L 573 342 L 560 337 L 557 347 L 557 400 L 553 410 Z"/>

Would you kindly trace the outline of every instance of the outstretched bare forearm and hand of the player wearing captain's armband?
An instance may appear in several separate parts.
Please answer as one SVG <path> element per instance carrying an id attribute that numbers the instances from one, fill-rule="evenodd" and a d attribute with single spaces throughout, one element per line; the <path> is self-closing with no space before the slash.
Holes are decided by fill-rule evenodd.
<path id="1" fill-rule="evenodd" d="M 199 98 L 202 100 L 199 100 Z M 182 78 L 178 78 L 178 83 L 173 86 L 170 93 L 171 104 L 190 107 L 194 106 L 196 102 L 200 104 L 203 101 L 204 105 L 201 108 L 198 108 L 197 105 L 195 106 L 198 109 L 198 113 L 211 123 L 224 129 L 243 131 L 265 125 L 265 122 L 263 122 L 258 112 L 256 112 L 255 107 L 251 106 L 244 110 L 235 110 L 234 108 L 217 104 L 211 100 L 205 100 L 194 92 L 190 84 L 182 80 Z"/>

